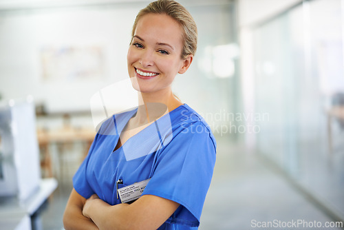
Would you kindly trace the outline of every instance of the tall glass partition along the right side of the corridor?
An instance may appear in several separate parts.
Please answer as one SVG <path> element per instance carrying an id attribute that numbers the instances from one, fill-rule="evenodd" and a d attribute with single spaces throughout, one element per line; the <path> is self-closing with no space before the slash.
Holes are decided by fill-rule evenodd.
<path id="1" fill-rule="evenodd" d="M 303 1 L 255 27 L 253 41 L 255 107 L 270 114 L 257 122 L 259 153 L 344 217 L 342 2 Z"/>

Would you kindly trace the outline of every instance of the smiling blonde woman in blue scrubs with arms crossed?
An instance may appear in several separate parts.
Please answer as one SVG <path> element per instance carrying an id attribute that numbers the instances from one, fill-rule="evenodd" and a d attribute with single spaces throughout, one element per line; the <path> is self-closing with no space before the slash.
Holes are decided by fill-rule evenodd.
<path id="1" fill-rule="evenodd" d="M 195 22 L 179 3 L 159 0 L 139 12 L 127 62 L 143 106 L 101 125 L 73 178 L 65 229 L 198 228 L 216 143 L 203 118 L 171 90 L 196 47 Z M 127 202 L 136 185 L 141 190 L 130 192 L 141 196 Z"/>

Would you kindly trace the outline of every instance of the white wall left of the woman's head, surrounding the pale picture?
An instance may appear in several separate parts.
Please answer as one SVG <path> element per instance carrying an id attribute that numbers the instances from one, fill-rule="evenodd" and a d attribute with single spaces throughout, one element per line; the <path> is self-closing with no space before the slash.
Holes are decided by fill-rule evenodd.
<path id="1" fill-rule="evenodd" d="M 45 10 L 0 16 L 0 92 L 32 94 L 49 110 L 89 107 L 96 90 L 127 76 L 127 48 L 138 8 Z M 120 20 L 122 19 L 122 20 Z M 103 75 L 86 81 L 43 79 L 42 48 L 103 48 Z"/>

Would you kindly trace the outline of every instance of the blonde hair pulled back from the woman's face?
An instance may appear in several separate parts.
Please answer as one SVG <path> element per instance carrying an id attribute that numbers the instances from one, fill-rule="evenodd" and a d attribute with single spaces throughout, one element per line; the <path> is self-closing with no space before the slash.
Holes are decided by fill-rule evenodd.
<path id="1" fill-rule="evenodd" d="M 182 29 L 183 49 L 181 58 L 186 59 L 186 56 L 193 54 L 197 50 L 197 25 L 193 20 L 193 17 L 184 6 L 180 5 L 177 1 L 173 0 L 158 0 L 149 3 L 146 8 L 143 8 L 138 12 L 135 22 L 133 23 L 133 30 L 131 32 L 131 38 L 135 35 L 136 26 L 138 21 L 146 14 L 166 14 L 177 21 Z"/>

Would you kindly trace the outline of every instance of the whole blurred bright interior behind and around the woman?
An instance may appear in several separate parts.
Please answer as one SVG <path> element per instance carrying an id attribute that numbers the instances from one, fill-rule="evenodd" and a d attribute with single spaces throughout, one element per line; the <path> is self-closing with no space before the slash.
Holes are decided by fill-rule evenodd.
<path id="1" fill-rule="evenodd" d="M 344 1 L 179 2 L 199 43 L 173 89 L 217 139 L 200 229 L 343 229 Z M 95 135 L 90 100 L 128 78 L 148 3 L 0 0 L 4 229 L 63 229 Z"/>

